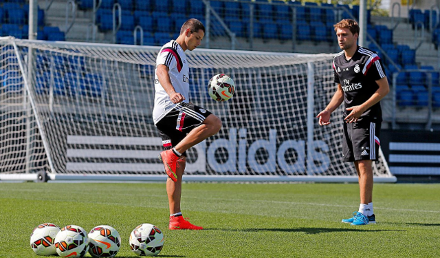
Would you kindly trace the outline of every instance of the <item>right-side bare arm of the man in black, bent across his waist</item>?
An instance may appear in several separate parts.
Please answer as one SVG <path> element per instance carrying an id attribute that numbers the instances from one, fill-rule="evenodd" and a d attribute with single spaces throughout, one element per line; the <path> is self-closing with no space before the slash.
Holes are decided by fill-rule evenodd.
<path id="1" fill-rule="evenodd" d="M 347 110 L 351 112 L 346 118 L 344 118 L 345 122 L 358 122 L 358 119 L 366 110 L 368 110 L 370 107 L 373 107 L 373 105 L 382 100 L 382 98 L 384 98 L 384 96 L 390 92 L 390 86 L 388 85 L 388 80 L 386 77 L 376 80 L 376 83 L 379 85 L 379 89 L 377 89 L 368 100 L 362 103 L 362 105 L 347 108 Z"/>

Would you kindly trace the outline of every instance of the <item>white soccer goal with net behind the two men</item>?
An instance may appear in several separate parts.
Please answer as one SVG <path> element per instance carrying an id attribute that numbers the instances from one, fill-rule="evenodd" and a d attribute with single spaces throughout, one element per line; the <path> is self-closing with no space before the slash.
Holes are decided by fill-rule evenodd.
<path id="1" fill-rule="evenodd" d="M 159 47 L 12 38 L 0 47 L 0 177 L 166 178 L 151 115 Z M 342 107 L 326 127 L 316 119 L 336 90 L 332 55 L 186 54 L 190 101 L 223 122 L 216 136 L 188 150 L 186 180 L 357 181 L 353 164 L 342 162 Z M 236 83 L 224 103 L 207 90 L 220 73 Z M 382 153 L 374 173 L 395 180 Z"/>

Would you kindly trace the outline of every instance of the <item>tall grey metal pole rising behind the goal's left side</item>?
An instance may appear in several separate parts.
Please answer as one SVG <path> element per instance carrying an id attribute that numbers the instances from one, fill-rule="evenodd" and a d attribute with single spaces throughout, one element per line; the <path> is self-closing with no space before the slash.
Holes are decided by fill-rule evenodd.
<path id="1" fill-rule="evenodd" d="M 29 30 L 28 36 L 30 40 L 36 39 L 36 28 L 38 25 L 38 0 L 30 0 L 29 1 Z M 20 58 L 17 56 L 17 58 Z M 35 59 L 35 50 L 32 47 L 29 47 L 28 51 L 28 83 L 30 89 L 34 88 L 34 59 Z M 26 112 L 26 173 L 30 173 L 30 164 L 31 164 L 31 149 L 32 149 L 32 111 L 29 100 L 29 92 L 23 91 L 24 96 L 24 105 Z"/>

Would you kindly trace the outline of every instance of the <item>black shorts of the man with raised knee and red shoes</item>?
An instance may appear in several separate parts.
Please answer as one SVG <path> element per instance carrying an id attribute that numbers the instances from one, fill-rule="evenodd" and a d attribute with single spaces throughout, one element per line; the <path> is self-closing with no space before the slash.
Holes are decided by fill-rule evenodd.
<path id="1" fill-rule="evenodd" d="M 210 111 L 192 103 L 179 103 L 175 106 L 156 124 L 164 149 L 176 146 L 187 133 L 201 125 L 210 114 L 212 114 Z M 186 153 L 182 155 L 186 156 Z"/>

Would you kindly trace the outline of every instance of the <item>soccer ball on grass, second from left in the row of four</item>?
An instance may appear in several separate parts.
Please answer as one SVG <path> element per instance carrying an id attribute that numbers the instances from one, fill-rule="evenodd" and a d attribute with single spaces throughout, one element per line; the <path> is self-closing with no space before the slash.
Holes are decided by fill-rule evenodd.
<path id="1" fill-rule="evenodd" d="M 55 248 L 61 257 L 84 257 L 89 249 L 87 232 L 80 226 L 65 226 L 56 234 Z"/>

